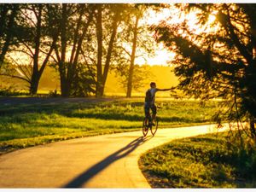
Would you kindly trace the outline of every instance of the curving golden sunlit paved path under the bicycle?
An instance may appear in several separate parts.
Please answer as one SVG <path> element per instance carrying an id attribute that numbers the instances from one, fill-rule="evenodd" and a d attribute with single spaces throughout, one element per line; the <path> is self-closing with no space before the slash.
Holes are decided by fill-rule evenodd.
<path id="1" fill-rule="evenodd" d="M 137 166 L 149 148 L 216 131 L 213 125 L 84 137 L 0 156 L 0 188 L 150 188 Z"/>

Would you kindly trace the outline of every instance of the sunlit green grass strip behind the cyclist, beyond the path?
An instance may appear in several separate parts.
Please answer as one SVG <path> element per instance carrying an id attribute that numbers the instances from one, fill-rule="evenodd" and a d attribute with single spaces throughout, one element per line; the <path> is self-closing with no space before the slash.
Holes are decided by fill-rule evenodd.
<path id="1" fill-rule="evenodd" d="M 159 100 L 161 127 L 211 122 L 218 102 Z M 184 108 L 185 106 L 185 108 Z M 0 153 L 41 143 L 141 130 L 143 99 L 0 107 Z"/>

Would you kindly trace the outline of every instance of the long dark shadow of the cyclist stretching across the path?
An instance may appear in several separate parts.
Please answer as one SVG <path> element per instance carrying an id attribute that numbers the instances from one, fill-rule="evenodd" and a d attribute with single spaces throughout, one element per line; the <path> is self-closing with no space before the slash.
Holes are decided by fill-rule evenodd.
<path id="1" fill-rule="evenodd" d="M 86 172 L 81 173 L 78 177 L 75 177 L 71 182 L 67 183 L 63 188 L 80 188 L 84 183 L 87 183 L 90 178 L 96 176 L 97 173 L 102 172 L 103 169 L 111 165 L 114 161 L 125 157 L 134 151 L 139 145 L 148 141 L 151 137 L 138 137 L 131 143 L 127 144 L 124 148 L 120 148 L 113 154 L 110 154 L 107 158 L 100 161 L 94 166 L 91 166 Z"/>

